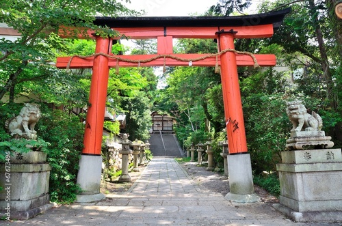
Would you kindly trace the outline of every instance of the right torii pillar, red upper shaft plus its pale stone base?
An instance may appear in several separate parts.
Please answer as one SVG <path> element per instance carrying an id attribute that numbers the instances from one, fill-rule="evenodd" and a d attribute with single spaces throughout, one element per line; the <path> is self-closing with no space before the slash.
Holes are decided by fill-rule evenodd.
<path id="1" fill-rule="evenodd" d="M 219 31 L 218 46 L 221 50 L 234 49 L 235 31 Z M 224 117 L 228 137 L 229 193 L 224 197 L 237 202 L 255 202 L 252 165 L 247 153 L 244 114 L 242 111 L 237 61 L 232 52 L 221 55 L 221 81 L 224 100 Z"/>

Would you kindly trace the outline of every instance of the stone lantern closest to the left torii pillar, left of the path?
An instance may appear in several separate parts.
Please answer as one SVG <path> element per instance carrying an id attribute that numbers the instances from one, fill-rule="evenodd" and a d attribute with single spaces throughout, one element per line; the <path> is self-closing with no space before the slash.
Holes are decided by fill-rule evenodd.
<path id="1" fill-rule="evenodd" d="M 121 145 L 122 148 L 119 151 L 119 153 L 121 154 L 121 158 L 122 158 L 122 173 L 120 175 L 119 178 L 119 182 L 131 182 L 131 177 L 129 176 L 128 173 L 128 168 L 129 168 L 129 154 L 132 154 L 132 151 L 129 149 L 129 145 L 131 145 L 131 141 L 128 139 L 128 135 L 124 134 L 122 136 L 122 141 L 121 141 Z"/>

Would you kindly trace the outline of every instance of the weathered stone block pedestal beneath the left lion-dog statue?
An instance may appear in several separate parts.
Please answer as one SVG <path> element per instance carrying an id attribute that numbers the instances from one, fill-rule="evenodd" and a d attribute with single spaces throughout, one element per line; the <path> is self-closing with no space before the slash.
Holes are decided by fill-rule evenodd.
<path id="1" fill-rule="evenodd" d="M 53 207 L 48 193 L 51 166 L 46 159 L 44 152 L 15 153 L 10 164 L 0 165 L 1 216 L 26 220 Z"/>

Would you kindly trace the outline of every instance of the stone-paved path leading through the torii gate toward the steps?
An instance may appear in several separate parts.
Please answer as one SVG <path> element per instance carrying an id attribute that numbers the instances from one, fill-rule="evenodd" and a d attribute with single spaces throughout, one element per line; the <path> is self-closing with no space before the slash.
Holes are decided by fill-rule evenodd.
<path id="1" fill-rule="evenodd" d="M 209 193 L 170 158 L 150 161 L 133 186 L 93 203 L 47 210 L 27 221 L 0 225 L 286 225 L 325 226 L 342 223 L 293 223 L 265 203 L 231 203 Z"/>

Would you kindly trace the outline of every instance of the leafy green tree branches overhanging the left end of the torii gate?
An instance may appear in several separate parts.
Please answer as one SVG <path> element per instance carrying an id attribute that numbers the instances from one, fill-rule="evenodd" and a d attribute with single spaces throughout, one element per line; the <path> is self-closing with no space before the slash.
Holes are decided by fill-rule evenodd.
<path id="1" fill-rule="evenodd" d="M 61 48 L 63 41 L 55 33 L 69 33 L 75 38 L 94 29 L 101 36 L 117 36 L 116 31 L 96 26 L 95 16 L 119 16 L 135 14 L 120 1 L 1 1 L 0 23 L 5 23 L 21 34 L 11 41 L 0 40 L 0 100 L 10 92 L 13 101 L 17 86 L 25 81 L 41 81 L 53 76 L 55 59 L 53 48 Z M 78 29 L 69 29 L 77 27 Z"/>

